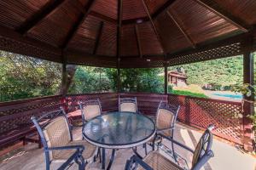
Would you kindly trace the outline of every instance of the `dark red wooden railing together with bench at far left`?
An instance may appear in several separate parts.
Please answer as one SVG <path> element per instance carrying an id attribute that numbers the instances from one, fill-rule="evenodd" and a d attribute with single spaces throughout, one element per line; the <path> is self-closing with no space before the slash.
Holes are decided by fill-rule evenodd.
<path id="1" fill-rule="evenodd" d="M 61 95 L 0 103 L 0 148 L 21 139 L 32 141 L 29 136 L 36 129 L 31 116 L 41 116 L 63 105 Z"/>

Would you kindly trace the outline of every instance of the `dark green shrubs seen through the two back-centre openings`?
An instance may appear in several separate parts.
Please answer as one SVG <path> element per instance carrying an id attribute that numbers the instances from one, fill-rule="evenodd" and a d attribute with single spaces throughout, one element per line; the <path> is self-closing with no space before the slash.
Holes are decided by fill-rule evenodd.
<path id="1" fill-rule="evenodd" d="M 163 92 L 162 69 L 121 69 L 122 92 Z M 117 71 L 111 68 L 78 66 L 69 94 L 116 91 Z"/>

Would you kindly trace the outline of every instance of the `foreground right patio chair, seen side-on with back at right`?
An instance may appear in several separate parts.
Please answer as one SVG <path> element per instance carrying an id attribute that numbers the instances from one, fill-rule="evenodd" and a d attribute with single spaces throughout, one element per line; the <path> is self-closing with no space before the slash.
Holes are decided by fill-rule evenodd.
<path id="1" fill-rule="evenodd" d="M 191 150 L 189 147 L 177 142 L 174 139 L 168 138 L 160 134 L 163 138 L 172 141 L 184 150 L 193 153 L 191 170 L 199 170 L 207 161 L 213 156 L 212 148 L 212 126 L 208 127 L 205 133 L 202 134 L 201 139 L 195 147 Z M 131 156 L 130 160 L 126 161 L 125 170 L 182 170 L 174 161 L 169 160 L 166 156 L 162 155 L 159 150 L 151 151 L 145 158 L 139 156 Z"/>

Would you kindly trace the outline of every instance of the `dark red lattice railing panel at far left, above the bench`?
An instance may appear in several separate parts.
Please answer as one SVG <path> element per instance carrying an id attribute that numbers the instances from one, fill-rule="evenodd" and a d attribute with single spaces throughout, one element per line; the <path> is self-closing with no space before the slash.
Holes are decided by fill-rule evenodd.
<path id="1" fill-rule="evenodd" d="M 25 99 L 0 104 L 0 133 L 7 133 L 32 124 L 31 116 L 41 116 L 63 106 L 61 96 Z"/>

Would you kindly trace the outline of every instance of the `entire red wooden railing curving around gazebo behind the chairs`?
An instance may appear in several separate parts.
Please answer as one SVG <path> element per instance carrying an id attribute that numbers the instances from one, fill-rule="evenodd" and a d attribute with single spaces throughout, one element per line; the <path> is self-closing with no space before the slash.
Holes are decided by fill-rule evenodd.
<path id="1" fill-rule="evenodd" d="M 173 105 L 181 105 L 178 121 L 192 127 L 206 128 L 214 124 L 214 134 L 228 139 L 236 144 L 242 144 L 242 120 L 237 118 L 241 114 L 241 103 L 217 99 L 200 99 L 172 94 L 74 94 L 66 99 L 60 95 L 37 99 L 25 99 L 14 102 L 0 103 L 0 137 L 1 134 L 15 132 L 20 127 L 31 124 L 32 115 L 39 116 L 44 111 L 51 111 L 64 106 L 67 112 L 79 109 L 78 101 L 86 99 L 100 99 L 102 111 L 117 111 L 118 98 L 137 97 L 138 111 L 143 114 L 155 114 L 160 100 Z M 1 143 L 1 140 L 0 140 Z M 1 145 L 1 144 L 0 144 Z"/>

